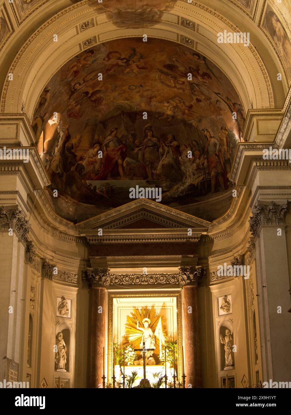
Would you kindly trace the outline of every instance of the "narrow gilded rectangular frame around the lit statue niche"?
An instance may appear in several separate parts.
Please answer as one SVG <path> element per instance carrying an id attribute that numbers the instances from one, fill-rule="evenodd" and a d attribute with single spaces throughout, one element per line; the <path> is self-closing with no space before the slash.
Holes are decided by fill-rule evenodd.
<path id="1" fill-rule="evenodd" d="M 177 347 L 178 347 L 178 379 L 182 381 L 182 323 L 181 323 L 181 293 L 157 293 L 157 294 L 109 294 L 108 301 L 108 382 L 112 382 L 113 376 L 113 300 L 114 298 L 176 298 L 177 307 Z M 169 379 L 172 382 L 173 379 Z"/>

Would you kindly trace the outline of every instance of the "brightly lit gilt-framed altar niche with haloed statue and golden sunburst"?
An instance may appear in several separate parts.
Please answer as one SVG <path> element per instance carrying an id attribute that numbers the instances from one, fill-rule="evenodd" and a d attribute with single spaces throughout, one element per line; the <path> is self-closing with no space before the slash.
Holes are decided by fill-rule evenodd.
<path id="1" fill-rule="evenodd" d="M 165 375 L 168 383 L 173 383 L 174 374 L 177 383 L 178 378 L 181 379 L 178 293 L 109 294 L 108 328 L 109 383 L 115 376 L 115 382 L 122 385 L 123 373 L 125 387 L 130 388 L 137 386 L 143 378 L 156 388 L 165 387 Z"/>

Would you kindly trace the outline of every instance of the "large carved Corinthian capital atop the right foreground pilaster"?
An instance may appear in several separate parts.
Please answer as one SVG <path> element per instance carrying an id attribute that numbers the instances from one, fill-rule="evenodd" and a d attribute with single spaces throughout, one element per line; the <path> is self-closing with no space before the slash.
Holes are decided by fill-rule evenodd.
<path id="1" fill-rule="evenodd" d="M 252 216 L 249 218 L 249 228 L 255 238 L 263 225 L 284 225 L 287 201 L 266 202 L 258 201 L 252 209 Z"/>

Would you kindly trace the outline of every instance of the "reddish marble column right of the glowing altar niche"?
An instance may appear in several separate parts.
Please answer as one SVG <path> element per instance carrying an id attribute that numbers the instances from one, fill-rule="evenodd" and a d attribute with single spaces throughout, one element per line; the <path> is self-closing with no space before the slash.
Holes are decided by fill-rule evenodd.
<path id="1" fill-rule="evenodd" d="M 192 388 L 202 387 L 197 289 L 198 288 L 193 285 L 186 285 L 183 287 L 185 321 L 184 361 L 185 375 L 187 376 L 186 387 L 190 383 Z"/>

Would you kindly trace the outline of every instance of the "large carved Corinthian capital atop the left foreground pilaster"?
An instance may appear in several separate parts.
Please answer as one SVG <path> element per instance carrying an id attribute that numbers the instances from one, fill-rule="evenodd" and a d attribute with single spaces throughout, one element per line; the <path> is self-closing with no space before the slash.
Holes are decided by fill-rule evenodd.
<path id="1" fill-rule="evenodd" d="M 30 229 L 26 215 L 19 207 L 0 207 L 0 230 L 14 231 L 22 242 L 26 242 Z"/>

